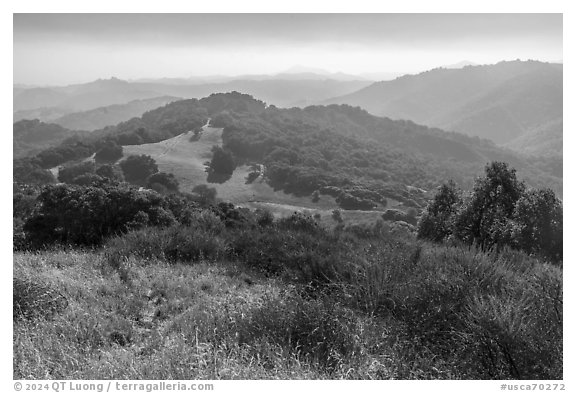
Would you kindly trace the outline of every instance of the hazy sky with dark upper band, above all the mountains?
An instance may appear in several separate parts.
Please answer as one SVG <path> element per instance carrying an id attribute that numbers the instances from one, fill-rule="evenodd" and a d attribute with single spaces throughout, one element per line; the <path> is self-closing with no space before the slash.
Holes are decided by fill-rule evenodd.
<path id="1" fill-rule="evenodd" d="M 562 60 L 561 14 L 15 14 L 14 83 Z"/>

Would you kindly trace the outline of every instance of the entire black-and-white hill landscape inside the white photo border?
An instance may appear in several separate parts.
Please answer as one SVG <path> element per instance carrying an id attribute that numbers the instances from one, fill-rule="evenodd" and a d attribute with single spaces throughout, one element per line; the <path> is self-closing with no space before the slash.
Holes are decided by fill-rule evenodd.
<path id="1" fill-rule="evenodd" d="M 563 379 L 562 97 L 561 14 L 14 14 L 13 378 Z"/>

